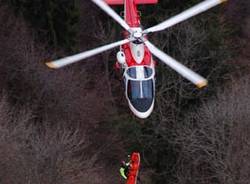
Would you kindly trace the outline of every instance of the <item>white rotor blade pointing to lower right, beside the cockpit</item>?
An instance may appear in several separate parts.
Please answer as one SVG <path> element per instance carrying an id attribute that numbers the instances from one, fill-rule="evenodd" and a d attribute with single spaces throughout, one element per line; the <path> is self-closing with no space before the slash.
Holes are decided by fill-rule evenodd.
<path id="1" fill-rule="evenodd" d="M 174 69 L 180 75 L 194 83 L 198 88 L 202 88 L 207 85 L 207 80 L 205 78 L 201 77 L 200 75 L 188 69 L 172 57 L 168 56 L 167 54 L 156 48 L 149 41 L 145 41 L 145 44 L 153 55 L 158 57 L 160 60 L 162 60 L 165 64 Z"/>

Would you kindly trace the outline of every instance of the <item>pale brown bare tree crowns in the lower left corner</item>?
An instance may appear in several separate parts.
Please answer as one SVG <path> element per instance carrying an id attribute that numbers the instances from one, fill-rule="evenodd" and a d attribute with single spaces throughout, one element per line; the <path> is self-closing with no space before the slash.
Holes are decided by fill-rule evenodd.
<path id="1" fill-rule="evenodd" d="M 89 142 L 64 123 L 37 128 L 27 110 L 0 101 L 0 176 L 3 183 L 100 183 L 98 153 L 85 154 Z"/>

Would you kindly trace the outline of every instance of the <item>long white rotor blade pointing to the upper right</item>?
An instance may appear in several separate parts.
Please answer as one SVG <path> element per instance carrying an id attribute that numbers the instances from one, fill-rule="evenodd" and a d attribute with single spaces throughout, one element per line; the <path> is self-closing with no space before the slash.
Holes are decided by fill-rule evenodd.
<path id="1" fill-rule="evenodd" d="M 190 17 L 193 17 L 199 13 L 202 13 L 220 3 L 226 2 L 227 0 L 206 0 L 203 1 L 199 4 L 197 4 L 196 6 L 180 13 L 179 15 L 176 15 L 156 26 L 153 26 L 151 28 L 148 28 L 146 30 L 143 31 L 143 33 L 150 33 L 150 32 L 157 32 L 157 31 L 162 31 L 166 28 L 169 28 L 175 24 L 178 24 Z"/>

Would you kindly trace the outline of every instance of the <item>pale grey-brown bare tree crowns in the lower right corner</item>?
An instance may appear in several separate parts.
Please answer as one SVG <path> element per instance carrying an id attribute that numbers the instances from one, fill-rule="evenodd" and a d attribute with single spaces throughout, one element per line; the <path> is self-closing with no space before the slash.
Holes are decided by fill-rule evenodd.
<path id="1" fill-rule="evenodd" d="M 178 183 L 250 181 L 249 76 L 224 90 L 178 125 Z"/>

